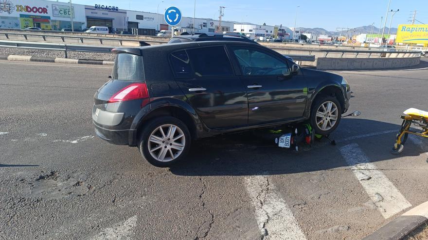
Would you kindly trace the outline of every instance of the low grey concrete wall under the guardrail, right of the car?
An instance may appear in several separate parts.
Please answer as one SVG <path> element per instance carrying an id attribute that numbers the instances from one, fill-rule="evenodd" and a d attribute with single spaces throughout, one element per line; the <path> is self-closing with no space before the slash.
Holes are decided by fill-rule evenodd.
<path id="1" fill-rule="evenodd" d="M 420 64 L 421 57 L 413 58 L 318 58 L 320 70 L 391 69 Z"/>

